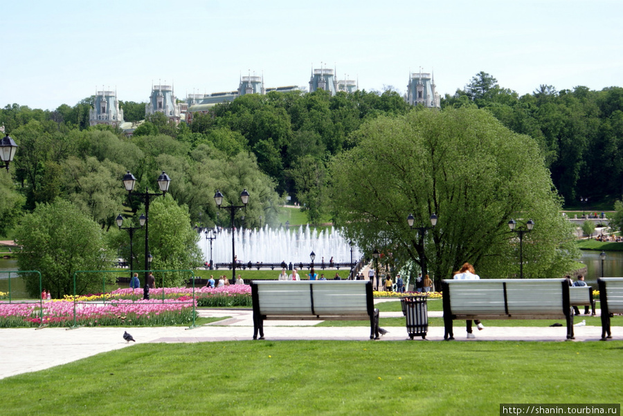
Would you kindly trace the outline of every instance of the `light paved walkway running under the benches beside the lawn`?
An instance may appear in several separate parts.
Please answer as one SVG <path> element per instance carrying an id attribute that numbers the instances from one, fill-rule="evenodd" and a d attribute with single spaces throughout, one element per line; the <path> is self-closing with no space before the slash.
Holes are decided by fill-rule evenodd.
<path id="1" fill-rule="evenodd" d="M 428 316 L 442 316 L 443 312 L 431 311 Z M 253 341 L 253 318 L 250 310 L 199 310 L 200 316 L 231 316 L 230 319 L 188 330 L 186 327 L 128 328 L 136 343 L 181 343 L 206 341 Z M 402 316 L 401 312 L 381 312 L 382 317 Z M 577 318 L 580 318 L 578 316 Z M 581 321 L 577 319 L 576 322 Z M 370 329 L 360 327 L 317 327 L 317 321 L 265 321 L 264 335 L 271 341 L 324 339 L 371 342 Z M 486 322 L 485 322 L 486 325 Z M 406 327 L 388 327 L 388 334 L 381 341 L 408 339 Z M 0 329 L 0 379 L 24 372 L 44 370 L 78 359 L 112 350 L 119 350 L 134 343 L 126 343 L 122 336 L 125 328 L 63 328 Z M 489 327 L 476 332 L 476 339 L 467 340 L 463 326 L 454 326 L 457 341 L 564 341 L 566 330 L 557 328 Z M 613 327 L 615 339 L 623 337 L 623 327 Z M 575 341 L 598 341 L 600 326 L 575 328 Z M 443 327 L 429 327 L 426 339 L 442 341 Z M 262 341 L 254 341 L 262 342 Z M 421 338 L 414 340 L 426 342 Z"/>

